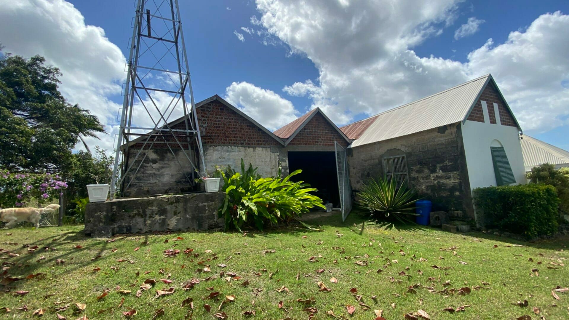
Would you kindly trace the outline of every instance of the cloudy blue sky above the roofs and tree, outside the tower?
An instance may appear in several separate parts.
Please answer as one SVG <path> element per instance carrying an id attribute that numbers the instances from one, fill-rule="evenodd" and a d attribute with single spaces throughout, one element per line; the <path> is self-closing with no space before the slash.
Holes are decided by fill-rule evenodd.
<path id="1" fill-rule="evenodd" d="M 134 0 L 69 2 L 10 5 L 5 18 L 39 21 L 37 35 L 0 22 L 0 42 L 60 67 L 68 99 L 112 128 L 92 143 L 110 147 Z M 490 72 L 525 133 L 569 149 L 569 2 L 388 2 L 180 1 L 196 101 L 218 94 L 270 129 L 315 106 L 341 125 Z"/>

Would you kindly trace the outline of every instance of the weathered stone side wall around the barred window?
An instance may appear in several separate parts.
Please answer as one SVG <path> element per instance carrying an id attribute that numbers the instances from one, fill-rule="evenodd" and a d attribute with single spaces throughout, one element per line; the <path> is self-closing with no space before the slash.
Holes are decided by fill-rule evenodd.
<path id="1" fill-rule="evenodd" d="M 410 186 L 432 201 L 434 211 L 464 211 L 474 219 L 460 128 L 452 124 L 348 149 L 352 189 L 384 175 L 383 157 L 405 154 Z"/>

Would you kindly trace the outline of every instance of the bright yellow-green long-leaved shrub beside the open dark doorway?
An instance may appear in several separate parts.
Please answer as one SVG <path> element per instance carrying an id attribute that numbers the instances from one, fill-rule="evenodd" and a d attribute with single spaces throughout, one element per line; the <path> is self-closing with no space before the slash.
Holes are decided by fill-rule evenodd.
<path id="1" fill-rule="evenodd" d="M 241 231 L 243 225 L 251 225 L 262 230 L 267 224 L 288 222 L 308 212 L 311 208 L 325 209 L 318 196 L 310 194 L 316 191 L 310 184 L 291 182 L 290 178 L 302 172 L 296 170 L 286 178 L 261 178 L 257 168 L 241 159 L 241 173 L 230 166 L 225 172 L 218 170 L 224 180 L 226 192 L 224 203 L 219 209 L 220 218 L 225 219 L 225 229 L 231 226 Z"/>

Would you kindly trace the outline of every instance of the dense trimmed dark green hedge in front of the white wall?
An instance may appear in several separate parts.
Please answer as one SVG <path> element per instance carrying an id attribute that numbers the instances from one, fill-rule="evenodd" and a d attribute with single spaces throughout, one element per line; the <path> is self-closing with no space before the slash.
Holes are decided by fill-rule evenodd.
<path id="1" fill-rule="evenodd" d="M 553 235 L 558 229 L 559 198 L 547 184 L 518 184 L 476 188 L 477 210 L 484 213 L 488 227 L 526 237 Z"/>

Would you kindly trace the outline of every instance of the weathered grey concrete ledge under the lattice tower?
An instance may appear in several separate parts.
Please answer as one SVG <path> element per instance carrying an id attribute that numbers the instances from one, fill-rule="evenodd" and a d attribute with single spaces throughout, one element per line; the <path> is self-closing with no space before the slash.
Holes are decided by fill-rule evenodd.
<path id="1" fill-rule="evenodd" d="M 125 198 L 88 203 L 85 235 L 221 229 L 217 209 L 225 192 Z"/>

